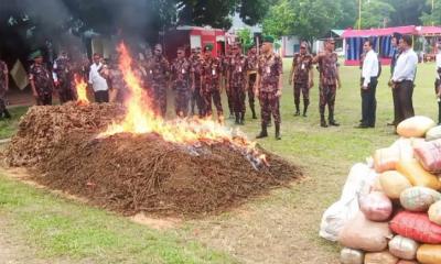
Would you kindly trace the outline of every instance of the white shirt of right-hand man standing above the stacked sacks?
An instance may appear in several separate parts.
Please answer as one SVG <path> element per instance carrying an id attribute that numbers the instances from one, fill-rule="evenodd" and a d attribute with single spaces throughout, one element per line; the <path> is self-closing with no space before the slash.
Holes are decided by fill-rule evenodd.
<path id="1" fill-rule="evenodd" d="M 397 59 L 394 70 L 394 81 L 415 80 L 417 73 L 418 56 L 412 48 L 402 52 Z"/>

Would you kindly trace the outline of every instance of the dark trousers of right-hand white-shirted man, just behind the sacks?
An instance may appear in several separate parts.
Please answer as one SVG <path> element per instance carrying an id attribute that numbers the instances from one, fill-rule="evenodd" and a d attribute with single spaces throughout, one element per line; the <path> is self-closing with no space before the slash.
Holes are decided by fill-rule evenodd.
<path id="1" fill-rule="evenodd" d="M 401 121 L 415 117 L 413 111 L 413 81 L 404 80 L 396 84 L 395 90 L 397 92 L 397 124 Z"/>

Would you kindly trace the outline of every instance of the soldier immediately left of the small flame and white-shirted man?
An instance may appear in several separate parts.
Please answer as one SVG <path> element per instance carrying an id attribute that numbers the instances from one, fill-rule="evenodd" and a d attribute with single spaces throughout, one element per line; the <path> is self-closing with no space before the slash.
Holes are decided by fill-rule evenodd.
<path id="1" fill-rule="evenodd" d="M 72 81 L 74 78 L 73 67 L 66 52 L 61 52 L 53 65 L 53 79 L 58 91 L 61 103 L 74 100 Z"/>

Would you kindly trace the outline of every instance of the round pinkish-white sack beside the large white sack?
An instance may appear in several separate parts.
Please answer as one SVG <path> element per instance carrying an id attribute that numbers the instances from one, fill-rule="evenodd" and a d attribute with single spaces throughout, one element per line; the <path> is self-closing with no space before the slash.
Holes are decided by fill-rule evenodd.
<path id="1" fill-rule="evenodd" d="M 359 198 L 359 208 L 368 220 L 386 221 L 392 213 L 392 202 L 380 191 L 373 191 Z"/>

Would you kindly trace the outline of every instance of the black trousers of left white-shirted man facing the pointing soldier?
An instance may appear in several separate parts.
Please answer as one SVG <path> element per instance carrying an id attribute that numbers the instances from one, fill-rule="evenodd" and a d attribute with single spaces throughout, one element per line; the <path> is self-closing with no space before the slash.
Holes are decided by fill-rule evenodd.
<path id="1" fill-rule="evenodd" d="M 362 81 L 364 81 L 362 79 Z M 362 124 L 375 127 L 375 118 L 377 111 L 377 91 L 378 80 L 376 77 L 370 78 L 367 89 L 362 88 Z"/>

